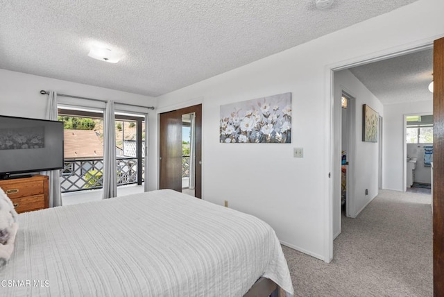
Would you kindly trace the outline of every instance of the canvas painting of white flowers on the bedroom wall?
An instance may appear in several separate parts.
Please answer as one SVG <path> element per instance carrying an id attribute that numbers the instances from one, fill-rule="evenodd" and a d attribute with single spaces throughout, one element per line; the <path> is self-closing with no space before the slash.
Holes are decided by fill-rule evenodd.
<path id="1" fill-rule="evenodd" d="M 291 93 L 221 105 L 221 143 L 291 143 Z"/>

